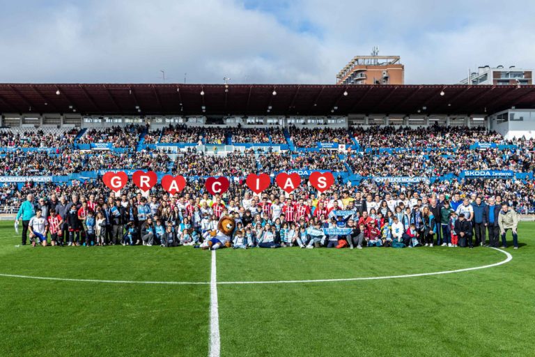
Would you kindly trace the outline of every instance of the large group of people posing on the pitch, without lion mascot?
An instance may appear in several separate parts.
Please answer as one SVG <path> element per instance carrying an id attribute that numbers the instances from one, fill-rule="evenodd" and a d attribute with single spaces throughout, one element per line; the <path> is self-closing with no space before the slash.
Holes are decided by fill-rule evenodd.
<path id="1" fill-rule="evenodd" d="M 501 194 L 361 192 L 342 185 L 318 193 L 304 185 L 290 195 L 278 188 L 254 195 L 244 186 L 233 183 L 229 192 L 214 196 L 199 183 L 176 195 L 157 187 L 142 195 L 132 185 L 121 195 L 102 185 L 65 193 L 49 186 L 37 200 L 26 196 L 16 224 L 22 220 L 22 244 L 29 237 L 34 246 L 197 246 L 221 218 L 230 217 L 235 248 L 505 248 L 509 230 L 518 248 L 518 213 Z"/>

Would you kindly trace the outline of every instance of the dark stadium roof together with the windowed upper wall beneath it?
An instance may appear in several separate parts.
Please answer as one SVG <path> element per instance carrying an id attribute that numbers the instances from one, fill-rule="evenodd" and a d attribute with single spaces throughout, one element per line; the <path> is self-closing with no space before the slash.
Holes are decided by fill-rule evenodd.
<path id="1" fill-rule="evenodd" d="M 0 84 L 1 126 L 483 126 L 535 135 L 535 86 Z"/>

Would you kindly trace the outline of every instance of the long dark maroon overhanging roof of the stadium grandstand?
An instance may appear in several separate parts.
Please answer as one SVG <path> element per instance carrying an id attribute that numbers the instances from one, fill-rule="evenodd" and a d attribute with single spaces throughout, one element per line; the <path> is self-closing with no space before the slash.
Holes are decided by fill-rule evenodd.
<path id="1" fill-rule="evenodd" d="M 417 114 L 420 110 L 456 115 L 492 114 L 513 106 L 535 108 L 535 86 L 0 84 L 4 114 L 139 115 L 139 107 L 141 114 L 325 116 Z"/>

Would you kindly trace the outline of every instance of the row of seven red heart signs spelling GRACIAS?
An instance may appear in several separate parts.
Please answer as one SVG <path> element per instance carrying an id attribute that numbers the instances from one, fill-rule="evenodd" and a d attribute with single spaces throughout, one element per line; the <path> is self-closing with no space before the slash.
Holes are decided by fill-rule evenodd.
<path id="1" fill-rule="evenodd" d="M 125 172 L 106 172 L 104 176 L 102 176 L 102 181 L 110 190 L 119 192 L 127 184 L 128 176 Z M 144 172 L 139 170 L 132 174 L 132 181 L 137 188 L 147 192 L 156 185 L 158 179 L 157 174 L 153 171 Z M 312 172 L 309 181 L 313 188 L 316 188 L 319 192 L 325 192 L 334 183 L 334 176 L 332 175 L 332 172 Z M 175 195 L 184 190 L 187 185 L 184 176 L 180 175 L 165 175 L 162 177 L 160 183 L 162 188 L 171 195 Z M 275 183 L 281 190 L 290 193 L 301 184 L 301 176 L 295 172 L 291 174 L 281 172 L 275 176 Z M 271 179 L 268 174 L 249 174 L 245 180 L 245 184 L 258 195 L 270 187 Z M 205 183 L 206 190 L 210 192 L 211 195 L 217 193 L 222 194 L 228 190 L 229 186 L 230 182 L 225 176 L 208 177 Z"/>

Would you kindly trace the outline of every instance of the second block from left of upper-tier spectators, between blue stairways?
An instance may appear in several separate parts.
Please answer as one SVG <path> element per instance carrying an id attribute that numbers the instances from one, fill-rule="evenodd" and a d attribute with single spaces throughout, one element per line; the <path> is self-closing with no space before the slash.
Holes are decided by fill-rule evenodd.
<path id="1" fill-rule="evenodd" d="M 136 149 L 139 135 L 145 126 L 129 125 L 125 127 L 112 126 L 111 128 L 88 129 L 78 139 L 78 144 L 111 143 L 116 148 Z"/>

